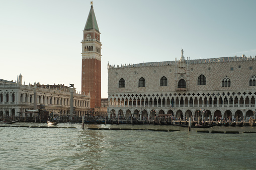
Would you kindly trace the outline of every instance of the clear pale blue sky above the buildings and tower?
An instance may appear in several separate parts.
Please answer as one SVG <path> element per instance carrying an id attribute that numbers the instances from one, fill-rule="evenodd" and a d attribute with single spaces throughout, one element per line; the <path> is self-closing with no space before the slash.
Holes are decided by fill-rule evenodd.
<path id="1" fill-rule="evenodd" d="M 87 0 L 0 0 L 0 79 L 74 84 L 81 91 Z M 95 0 L 101 33 L 102 98 L 107 64 L 256 56 L 256 1 Z"/>

